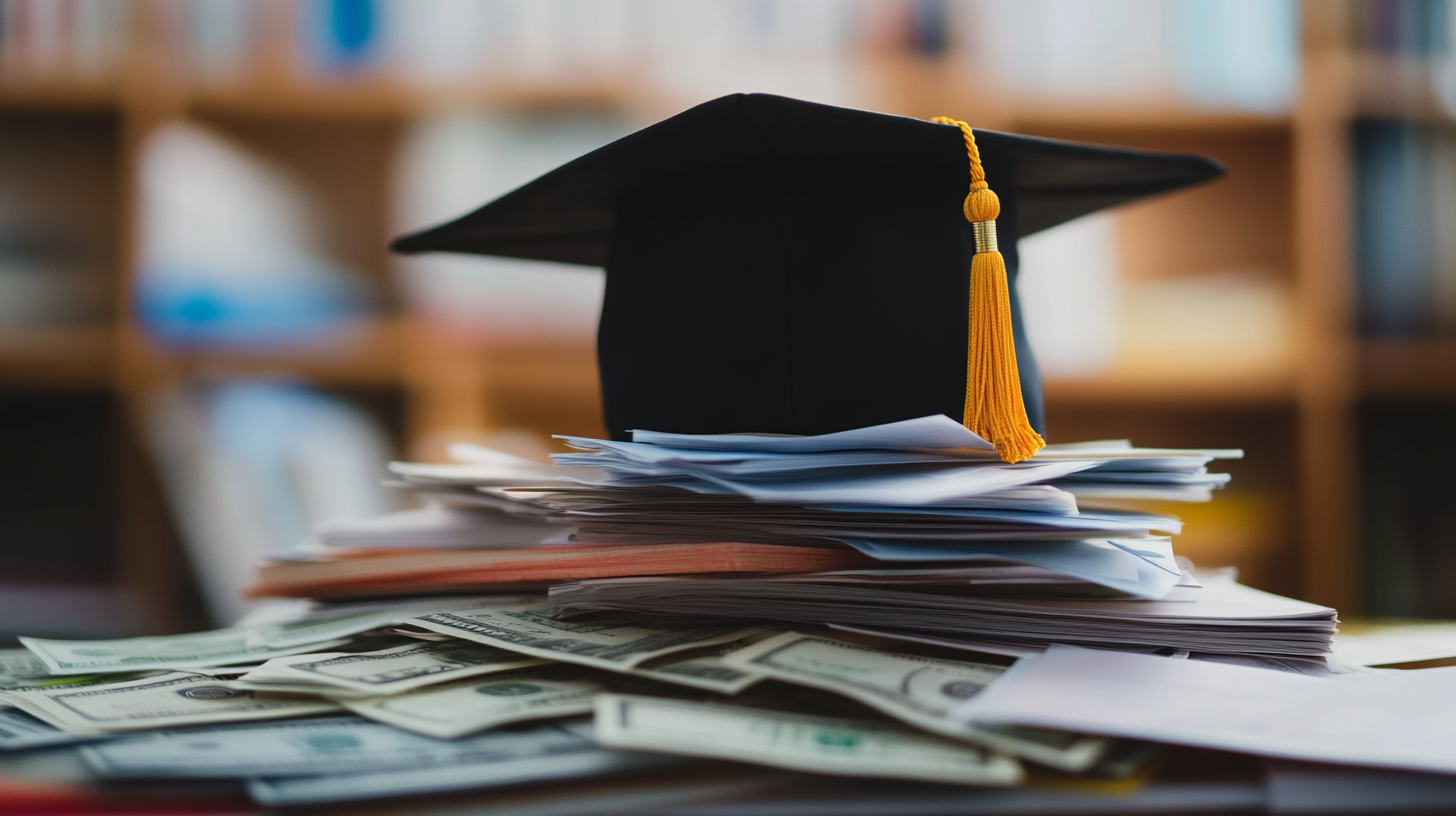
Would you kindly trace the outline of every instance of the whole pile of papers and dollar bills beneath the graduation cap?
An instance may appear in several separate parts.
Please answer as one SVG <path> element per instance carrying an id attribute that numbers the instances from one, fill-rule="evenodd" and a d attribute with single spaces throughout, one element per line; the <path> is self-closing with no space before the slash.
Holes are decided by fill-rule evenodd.
<path id="1" fill-rule="evenodd" d="M 1328 670 L 1334 611 L 1195 576 L 1159 535 L 1176 519 L 1125 504 L 1207 498 L 1235 452 L 1006 465 L 943 417 L 568 442 L 559 471 L 479 449 L 396 465 L 431 509 L 320 529 L 255 587 L 323 599 L 208 632 L 22 638 L 0 653 L 0 749 L 265 806 L 625 781 L 722 800 L 805 775 L 930 796 L 1146 769 L 1146 740 L 967 714 L 1056 644 Z M 399 558 L 437 561 L 379 567 Z M 333 573 L 277 577 L 309 568 Z"/>

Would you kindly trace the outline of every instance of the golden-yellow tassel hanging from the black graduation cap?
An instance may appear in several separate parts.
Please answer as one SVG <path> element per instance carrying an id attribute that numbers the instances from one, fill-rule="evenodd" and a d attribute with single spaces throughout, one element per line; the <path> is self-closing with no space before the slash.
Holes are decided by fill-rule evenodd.
<path id="1" fill-rule="evenodd" d="M 930 119 L 957 125 L 971 159 L 971 192 L 965 220 L 976 236 L 971 258 L 970 338 L 965 351 L 965 427 L 996 447 L 1005 462 L 1024 462 L 1047 446 L 1026 418 L 1016 370 L 1016 342 L 1010 326 L 1010 291 L 1006 259 L 996 246 L 1000 198 L 986 184 L 981 153 L 971 125 L 946 117 Z"/>

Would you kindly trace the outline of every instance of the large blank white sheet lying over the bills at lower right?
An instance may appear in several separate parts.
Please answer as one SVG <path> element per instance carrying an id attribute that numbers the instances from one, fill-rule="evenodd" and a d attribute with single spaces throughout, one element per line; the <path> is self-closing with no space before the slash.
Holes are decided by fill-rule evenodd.
<path id="1" fill-rule="evenodd" d="M 1309 678 L 1053 646 L 957 711 L 976 723 L 1456 772 L 1456 667 Z"/>

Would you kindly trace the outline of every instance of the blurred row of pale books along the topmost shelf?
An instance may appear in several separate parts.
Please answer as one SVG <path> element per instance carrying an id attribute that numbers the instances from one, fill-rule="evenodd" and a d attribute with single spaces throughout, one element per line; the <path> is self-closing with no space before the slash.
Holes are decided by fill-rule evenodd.
<path id="1" fill-rule="evenodd" d="M 95 79 L 119 64 L 130 4 L 6 0 L 7 74 Z M 411 85 L 641 80 L 697 101 L 747 85 L 855 102 L 872 54 L 989 64 L 1019 96 L 1175 96 L 1281 112 L 1299 79 L 1294 0 L 189 0 L 176 32 L 189 70 L 246 80 L 264 38 L 291 31 L 313 79 L 383 74 Z M 727 83 L 727 85 L 725 85 Z M 729 87 L 731 86 L 731 87 Z"/>

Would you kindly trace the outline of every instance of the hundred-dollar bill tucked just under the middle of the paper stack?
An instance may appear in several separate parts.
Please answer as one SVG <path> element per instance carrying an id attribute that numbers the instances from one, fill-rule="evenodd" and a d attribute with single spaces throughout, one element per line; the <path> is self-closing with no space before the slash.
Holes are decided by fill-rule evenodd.
<path id="1" fill-rule="evenodd" d="M 547 606 L 534 600 L 424 615 L 409 624 L 523 654 L 617 672 L 674 651 L 743 640 L 763 629 L 555 621 L 546 612 Z"/>

